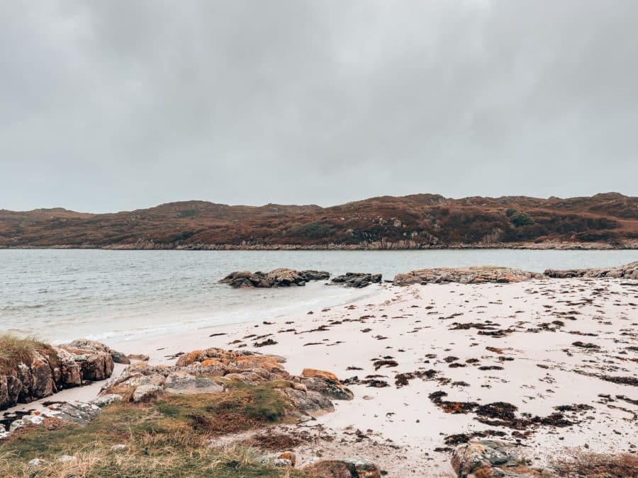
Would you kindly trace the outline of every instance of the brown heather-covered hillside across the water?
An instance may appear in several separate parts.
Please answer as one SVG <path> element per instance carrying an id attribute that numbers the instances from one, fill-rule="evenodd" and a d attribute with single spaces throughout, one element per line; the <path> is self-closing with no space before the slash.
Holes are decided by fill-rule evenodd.
<path id="1" fill-rule="evenodd" d="M 112 214 L 0 210 L 0 247 L 637 247 L 638 198 L 381 196 L 332 207 L 185 201 Z"/>

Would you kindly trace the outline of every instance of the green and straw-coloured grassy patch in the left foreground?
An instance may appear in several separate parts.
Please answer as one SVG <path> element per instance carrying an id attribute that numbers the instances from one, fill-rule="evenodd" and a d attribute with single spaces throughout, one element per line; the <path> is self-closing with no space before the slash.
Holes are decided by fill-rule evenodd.
<path id="1" fill-rule="evenodd" d="M 150 404 L 113 404 L 86 426 L 30 428 L 0 441 L 0 476 L 299 477 L 300 472 L 259 465 L 250 448 L 208 446 L 211 436 L 282 421 L 285 409 L 284 398 L 269 384 L 172 395 Z M 126 449 L 112 452 L 116 444 Z M 56 463 L 61 455 L 76 460 Z M 33 458 L 45 465 L 29 468 Z"/>

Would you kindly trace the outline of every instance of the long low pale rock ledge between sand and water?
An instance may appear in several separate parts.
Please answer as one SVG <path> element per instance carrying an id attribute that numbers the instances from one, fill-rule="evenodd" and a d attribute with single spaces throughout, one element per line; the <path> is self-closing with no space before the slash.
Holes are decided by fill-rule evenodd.
<path id="1" fill-rule="evenodd" d="M 481 283 L 512 283 L 522 280 L 542 279 L 544 275 L 522 271 L 509 267 L 466 267 L 466 268 L 434 268 L 419 269 L 394 276 L 393 285 L 450 283 L 481 284 Z"/>

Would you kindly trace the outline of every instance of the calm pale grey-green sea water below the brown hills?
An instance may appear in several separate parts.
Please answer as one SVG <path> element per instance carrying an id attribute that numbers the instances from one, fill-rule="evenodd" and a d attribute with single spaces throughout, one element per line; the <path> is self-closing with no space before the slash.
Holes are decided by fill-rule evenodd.
<path id="1" fill-rule="evenodd" d="M 337 305 L 374 293 L 323 283 L 233 290 L 231 271 L 277 267 L 393 275 L 417 268 L 618 266 L 638 251 L 98 251 L 0 250 L 0 331 L 52 341 L 134 338 Z"/>

